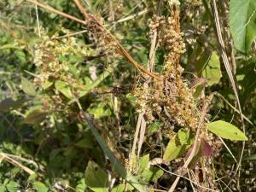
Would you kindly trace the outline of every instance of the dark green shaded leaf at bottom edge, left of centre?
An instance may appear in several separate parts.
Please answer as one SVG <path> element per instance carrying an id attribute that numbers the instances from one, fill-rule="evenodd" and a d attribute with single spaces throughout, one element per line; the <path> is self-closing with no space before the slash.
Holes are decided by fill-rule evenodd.
<path id="1" fill-rule="evenodd" d="M 108 174 L 95 162 L 89 161 L 85 171 L 85 184 L 95 192 L 108 192 Z"/>

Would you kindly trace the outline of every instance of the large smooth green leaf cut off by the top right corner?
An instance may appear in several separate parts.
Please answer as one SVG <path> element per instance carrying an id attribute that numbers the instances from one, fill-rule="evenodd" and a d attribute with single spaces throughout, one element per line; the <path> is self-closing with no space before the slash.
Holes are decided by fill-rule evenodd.
<path id="1" fill-rule="evenodd" d="M 230 0 L 229 18 L 236 49 L 248 53 L 256 38 L 256 1 Z"/>

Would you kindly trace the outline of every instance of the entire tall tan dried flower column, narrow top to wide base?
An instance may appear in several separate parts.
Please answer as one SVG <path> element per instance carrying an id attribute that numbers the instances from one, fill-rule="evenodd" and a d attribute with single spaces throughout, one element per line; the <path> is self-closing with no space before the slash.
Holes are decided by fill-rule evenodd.
<path id="1" fill-rule="evenodd" d="M 199 115 L 193 91 L 182 78 L 183 67 L 179 65 L 179 58 L 184 52 L 185 44 L 183 34 L 179 32 L 175 11 L 172 17 L 154 15 L 149 27 L 151 32 L 158 29 L 159 44 L 167 51 L 164 63 L 166 73 L 161 81 L 154 83 L 153 89 L 145 86 L 137 89 L 139 112 L 143 109 L 149 121 L 160 119 L 169 128 L 178 125 L 195 131 Z"/>

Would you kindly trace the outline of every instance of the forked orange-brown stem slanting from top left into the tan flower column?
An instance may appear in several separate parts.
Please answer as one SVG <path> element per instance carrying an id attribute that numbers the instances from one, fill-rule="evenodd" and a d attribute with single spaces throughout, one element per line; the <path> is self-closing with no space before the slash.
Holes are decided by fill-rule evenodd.
<path id="1" fill-rule="evenodd" d="M 146 73 L 148 76 L 150 76 L 151 78 L 157 80 L 157 81 L 160 81 L 160 77 L 154 73 L 150 73 L 147 69 L 143 68 L 140 64 L 137 63 L 137 61 L 133 60 L 133 58 L 131 57 L 131 55 L 129 55 L 129 53 L 127 52 L 127 50 L 119 43 L 119 40 L 117 40 L 116 38 L 113 37 L 113 35 L 108 32 L 108 30 L 102 25 L 102 23 L 100 23 L 95 16 L 93 15 L 89 15 L 85 9 L 83 9 L 83 6 L 81 5 L 81 3 L 79 2 L 79 0 L 73 0 L 79 10 L 82 12 L 82 14 L 84 15 L 84 18 L 87 20 L 80 20 L 79 18 L 76 18 L 72 15 L 67 15 L 59 10 L 56 10 L 52 7 L 50 7 L 49 5 L 46 5 L 44 3 L 39 3 L 38 1 L 35 1 L 35 0 L 27 0 L 28 2 L 30 3 L 33 3 L 33 4 L 36 4 L 38 5 L 39 7 L 41 8 L 44 8 L 44 9 L 47 9 L 57 15 L 61 15 L 61 16 L 64 16 L 66 17 L 67 19 L 70 19 L 70 20 L 75 20 L 83 25 L 86 25 L 88 22 L 87 21 L 93 21 L 96 23 L 96 25 L 102 29 L 103 32 L 106 32 L 109 37 L 113 40 L 113 42 L 115 43 L 115 46 L 116 46 L 116 49 L 117 49 L 117 52 L 119 53 L 119 55 L 122 55 L 123 57 L 125 57 L 125 60 L 126 61 L 129 61 L 134 67 L 137 68 L 137 70 L 141 73 Z"/>

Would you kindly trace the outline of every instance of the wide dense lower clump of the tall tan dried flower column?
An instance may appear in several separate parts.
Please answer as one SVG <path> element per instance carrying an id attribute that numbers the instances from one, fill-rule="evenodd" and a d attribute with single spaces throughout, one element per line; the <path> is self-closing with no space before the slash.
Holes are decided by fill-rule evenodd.
<path id="1" fill-rule="evenodd" d="M 136 96 L 149 121 L 160 119 L 167 127 L 178 125 L 195 131 L 199 115 L 192 90 L 181 78 L 182 73 L 182 67 L 170 65 L 168 74 L 154 84 L 154 89 L 144 86 L 137 89 Z"/>

